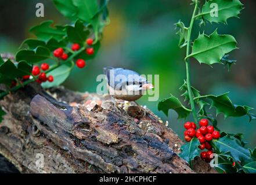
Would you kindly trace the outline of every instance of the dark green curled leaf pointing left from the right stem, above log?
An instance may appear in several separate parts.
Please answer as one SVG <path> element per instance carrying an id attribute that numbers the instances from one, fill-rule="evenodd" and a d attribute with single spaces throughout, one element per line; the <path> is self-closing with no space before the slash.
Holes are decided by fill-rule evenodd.
<path id="1" fill-rule="evenodd" d="M 173 109 L 178 113 L 178 119 L 185 118 L 189 116 L 192 110 L 186 108 L 182 105 L 178 98 L 171 95 L 170 98 L 165 98 L 158 103 L 158 110 L 162 110 L 166 116 L 168 116 L 168 110 Z"/>

